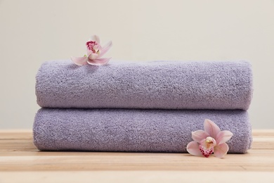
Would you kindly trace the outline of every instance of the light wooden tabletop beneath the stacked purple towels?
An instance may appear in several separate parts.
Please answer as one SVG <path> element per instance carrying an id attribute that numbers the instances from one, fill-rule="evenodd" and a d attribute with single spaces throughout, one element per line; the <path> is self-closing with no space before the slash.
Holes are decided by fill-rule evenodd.
<path id="1" fill-rule="evenodd" d="M 253 130 L 247 154 L 40 152 L 31 130 L 0 130 L 4 182 L 274 182 L 274 130 Z"/>

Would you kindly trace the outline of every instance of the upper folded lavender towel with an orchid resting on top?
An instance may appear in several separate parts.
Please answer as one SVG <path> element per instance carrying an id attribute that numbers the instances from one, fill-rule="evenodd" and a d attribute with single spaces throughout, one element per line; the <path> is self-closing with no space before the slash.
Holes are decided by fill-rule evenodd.
<path id="1" fill-rule="evenodd" d="M 247 110 L 253 91 L 246 61 L 48 61 L 36 78 L 37 103 L 48 108 Z"/>

